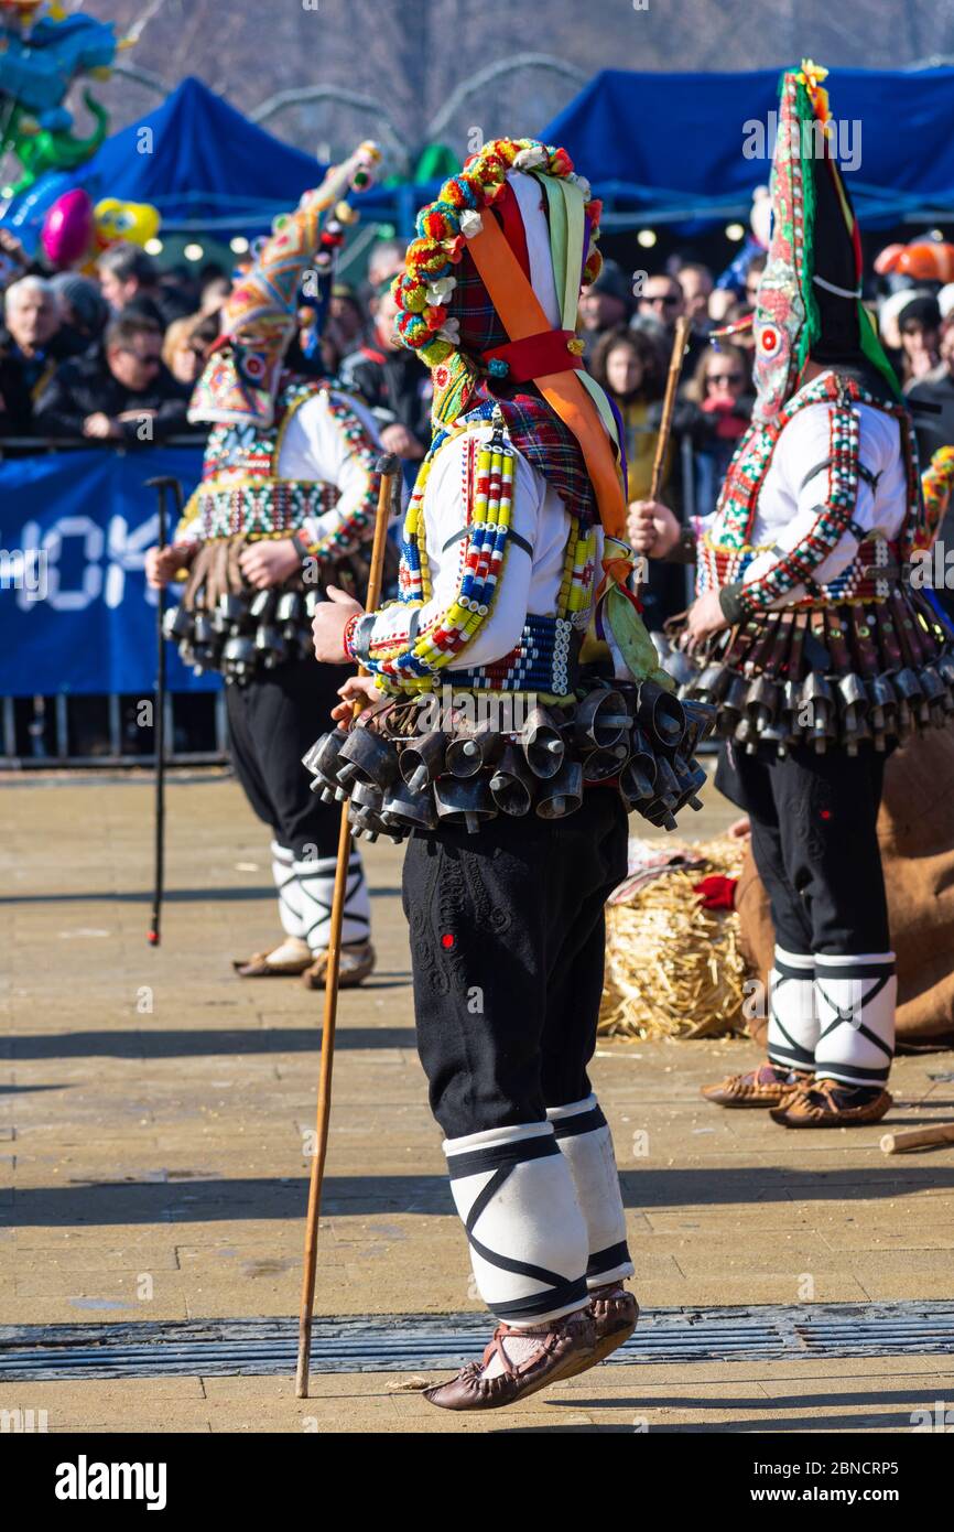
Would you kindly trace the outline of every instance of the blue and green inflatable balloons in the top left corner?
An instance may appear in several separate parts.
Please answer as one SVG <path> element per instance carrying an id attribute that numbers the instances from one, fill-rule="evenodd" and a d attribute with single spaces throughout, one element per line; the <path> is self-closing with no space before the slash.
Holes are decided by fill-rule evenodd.
<path id="1" fill-rule="evenodd" d="M 46 0 L 0 0 L 0 158 L 14 153 L 21 167 L 5 196 L 26 192 L 47 170 L 74 170 L 96 152 L 106 109 L 84 90 L 96 126 L 80 138 L 63 103 L 81 75 L 107 78 L 121 46 L 112 21 L 66 15 Z"/>

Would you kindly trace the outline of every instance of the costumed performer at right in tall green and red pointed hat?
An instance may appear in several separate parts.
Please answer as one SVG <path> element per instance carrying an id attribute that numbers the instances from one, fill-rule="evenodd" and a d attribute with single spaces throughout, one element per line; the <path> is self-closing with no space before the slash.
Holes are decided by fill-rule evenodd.
<path id="1" fill-rule="evenodd" d="M 954 682 L 948 627 L 910 579 L 934 529 L 910 415 L 861 305 L 824 74 L 782 77 L 756 408 L 711 525 L 680 529 L 643 504 L 632 527 L 642 552 L 698 562 L 688 648 L 704 668 L 688 694 L 720 709 L 717 784 L 750 815 L 775 925 L 769 1060 L 703 1094 L 789 1128 L 871 1123 L 891 1105 L 884 763 L 945 723 Z"/>

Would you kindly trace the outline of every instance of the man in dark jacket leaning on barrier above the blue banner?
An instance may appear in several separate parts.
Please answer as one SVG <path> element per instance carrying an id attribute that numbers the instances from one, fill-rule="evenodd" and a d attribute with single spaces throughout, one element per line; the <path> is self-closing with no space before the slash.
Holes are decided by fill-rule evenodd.
<path id="1" fill-rule="evenodd" d="M 185 430 L 187 401 L 162 362 L 162 331 L 115 319 L 103 349 L 66 362 L 37 403 L 37 429 L 93 441 L 161 441 Z"/>

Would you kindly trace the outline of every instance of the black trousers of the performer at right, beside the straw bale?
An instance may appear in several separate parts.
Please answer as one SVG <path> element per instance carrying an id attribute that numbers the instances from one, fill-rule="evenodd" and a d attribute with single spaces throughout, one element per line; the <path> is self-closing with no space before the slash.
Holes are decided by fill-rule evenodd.
<path id="1" fill-rule="evenodd" d="M 752 820 L 752 855 L 779 947 L 839 956 L 891 947 L 877 810 L 885 755 L 723 745 L 715 786 Z"/>

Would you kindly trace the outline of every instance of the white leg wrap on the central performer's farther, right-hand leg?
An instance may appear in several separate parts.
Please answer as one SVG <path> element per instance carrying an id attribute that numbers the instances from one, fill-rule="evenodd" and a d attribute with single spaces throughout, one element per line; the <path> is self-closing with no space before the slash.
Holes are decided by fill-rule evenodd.
<path id="1" fill-rule="evenodd" d="M 551 1106 L 547 1117 L 553 1123 L 560 1154 L 570 1166 L 573 1184 L 590 1235 L 586 1285 L 622 1282 L 632 1276 L 632 1261 L 626 1246 L 626 1215 L 620 1195 L 620 1178 L 613 1154 L 613 1135 L 596 1095 L 570 1106 Z"/>

